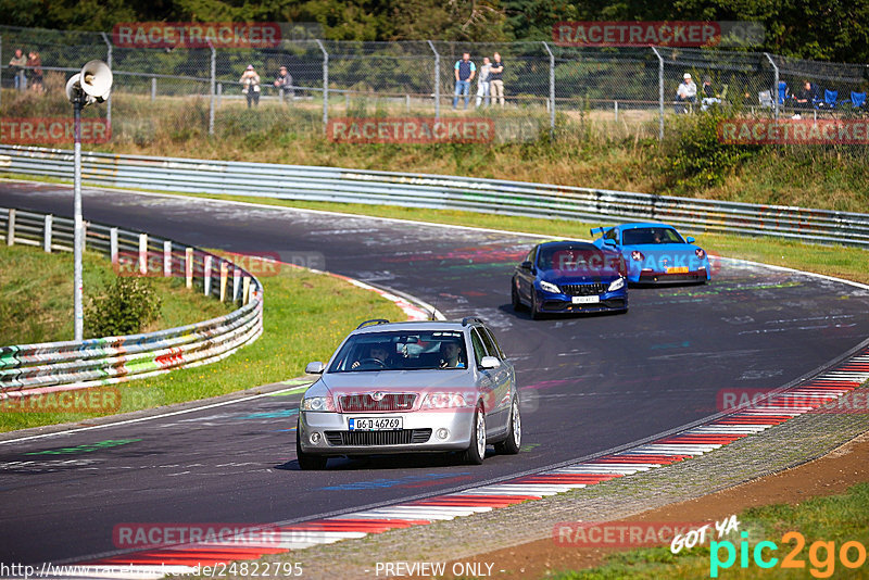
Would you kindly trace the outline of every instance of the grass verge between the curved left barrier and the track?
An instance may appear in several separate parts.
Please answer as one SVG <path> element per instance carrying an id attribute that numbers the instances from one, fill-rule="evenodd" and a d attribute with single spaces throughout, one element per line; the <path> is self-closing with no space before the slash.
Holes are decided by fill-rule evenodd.
<path id="1" fill-rule="evenodd" d="M 311 361 L 326 361 L 365 318 L 403 320 L 404 313 L 375 292 L 306 270 L 285 267 L 261 278 L 265 292 L 263 336 L 224 361 L 122 383 L 119 412 L 216 396 L 298 377 Z M 0 413 L 0 431 L 96 415 Z"/>

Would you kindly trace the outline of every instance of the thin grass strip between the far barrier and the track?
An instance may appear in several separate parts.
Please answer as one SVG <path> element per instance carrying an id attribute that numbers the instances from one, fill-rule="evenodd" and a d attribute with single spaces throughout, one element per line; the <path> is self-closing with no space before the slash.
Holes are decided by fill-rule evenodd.
<path id="1" fill-rule="evenodd" d="M 543 238 L 589 238 L 589 228 L 601 224 L 585 224 L 569 219 L 542 219 L 509 215 L 479 214 L 456 210 L 419 210 L 393 205 L 364 205 L 353 203 L 307 202 L 249 198 L 244 196 L 193 194 L 192 197 L 261 203 L 284 207 L 324 210 L 357 215 L 373 215 L 399 219 L 415 219 L 432 224 L 451 224 L 481 228 L 539 234 Z M 843 245 L 820 245 L 777 238 L 752 238 L 704 234 L 697 243 L 713 254 L 785 266 L 804 272 L 836 276 L 869 283 L 869 251 Z"/>

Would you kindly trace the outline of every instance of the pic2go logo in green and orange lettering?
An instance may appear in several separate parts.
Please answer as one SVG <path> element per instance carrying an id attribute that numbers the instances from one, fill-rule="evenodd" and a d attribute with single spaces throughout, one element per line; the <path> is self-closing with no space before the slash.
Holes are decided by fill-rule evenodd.
<path id="1" fill-rule="evenodd" d="M 764 541 L 755 544 L 754 549 L 748 546 L 748 532 L 741 532 L 742 541 L 739 547 L 740 568 L 748 568 L 750 555 L 758 568 L 773 568 L 779 565 L 779 558 L 772 553 L 779 550 L 774 542 Z M 790 531 L 781 537 L 782 543 L 795 542 L 794 546 L 781 559 L 781 568 L 805 569 L 806 562 L 799 555 L 806 545 L 805 537 L 796 531 Z M 830 578 L 835 571 L 836 555 L 842 566 L 849 569 L 859 568 L 866 564 L 866 546 L 860 542 L 844 542 L 836 553 L 835 542 L 824 542 L 818 540 L 813 542 L 808 549 L 808 562 L 811 565 L 809 572 L 815 578 Z M 725 559 L 722 553 L 726 553 Z M 766 552 L 765 552 L 766 551 Z M 736 546 L 733 542 L 725 540 L 722 542 L 713 541 L 709 544 L 709 577 L 718 578 L 718 571 L 728 569 L 736 563 Z"/>

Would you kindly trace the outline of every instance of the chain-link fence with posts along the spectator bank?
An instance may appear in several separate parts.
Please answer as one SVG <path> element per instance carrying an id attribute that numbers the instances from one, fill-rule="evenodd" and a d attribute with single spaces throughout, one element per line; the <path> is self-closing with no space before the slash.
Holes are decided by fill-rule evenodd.
<path id="1" fill-rule="evenodd" d="M 866 65 L 714 49 L 427 40 L 166 49 L 113 47 L 111 35 L 100 33 L 2 26 L 0 35 L 3 117 L 68 116 L 63 84 L 86 61 L 101 59 L 114 73 L 111 101 L 86 114 L 108 117 L 115 142 L 323 134 L 339 117 L 417 116 L 490 118 L 500 140 L 557 135 L 571 124 L 604 127 L 614 138 L 664 138 L 677 115 L 716 105 L 743 118 L 862 118 L 869 87 Z M 10 64 L 16 49 L 38 52 L 41 79 L 37 66 Z M 467 97 L 455 94 L 464 52 L 477 68 Z M 487 87 L 479 76 L 483 56 L 494 62 L 495 52 L 503 104 L 494 83 Z M 249 86 L 250 66 L 259 81 Z M 279 77 L 281 66 L 291 79 Z"/>

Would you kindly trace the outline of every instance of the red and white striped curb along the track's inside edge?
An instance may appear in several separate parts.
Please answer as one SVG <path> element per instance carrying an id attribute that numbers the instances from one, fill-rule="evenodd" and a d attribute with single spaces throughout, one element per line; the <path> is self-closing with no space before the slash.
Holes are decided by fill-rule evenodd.
<path id="1" fill-rule="evenodd" d="M 97 578 L 113 570 L 118 577 L 121 566 L 136 570 L 135 575 L 122 575 L 125 578 L 161 578 L 169 567 L 171 573 L 192 573 L 197 566 L 252 560 L 268 554 L 364 538 L 369 533 L 450 520 L 540 500 L 703 455 L 804 413 L 821 412 L 824 405 L 866 380 L 869 380 L 869 348 L 815 378 L 772 395 L 763 406 L 740 409 L 626 451 L 455 493 L 301 524 L 267 526 L 278 533 L 267 542 L 237 538 L 224 543 L 187 544 L 100 558 L 81 563 L 77 576 Z M 804 401 L 809 403 L 804 404 Z"/>

